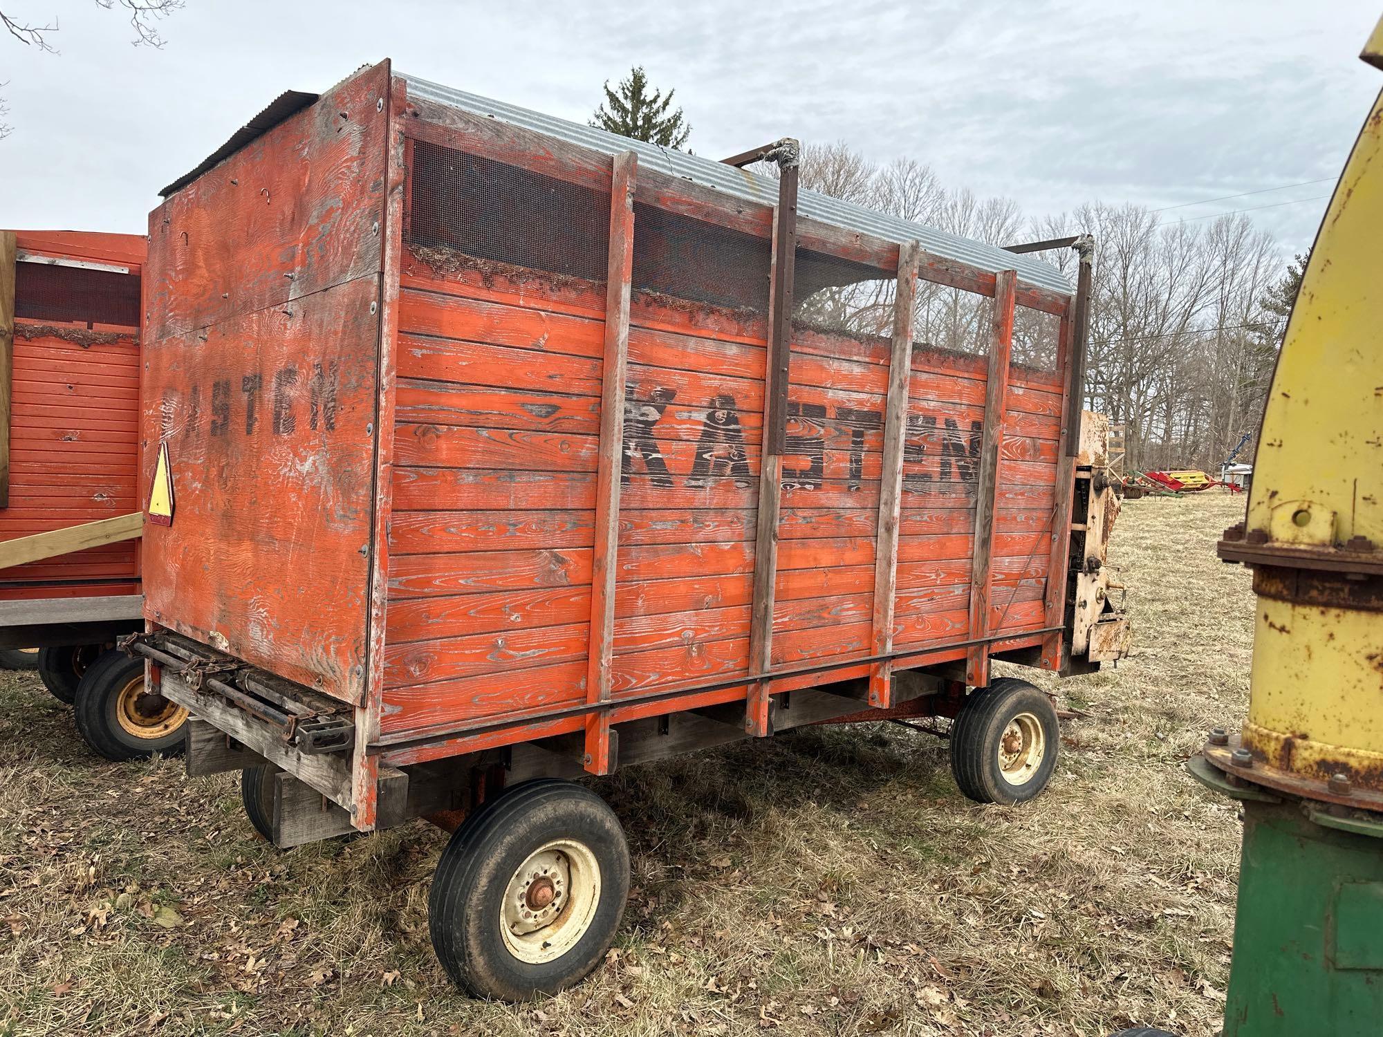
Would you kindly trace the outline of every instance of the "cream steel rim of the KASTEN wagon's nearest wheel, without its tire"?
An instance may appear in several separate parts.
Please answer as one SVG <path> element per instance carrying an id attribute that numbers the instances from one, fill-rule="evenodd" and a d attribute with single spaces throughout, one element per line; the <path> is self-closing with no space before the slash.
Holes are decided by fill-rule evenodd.
<path id="1" fill-rule="evenodd" d="M 528 854 L 505 886 L 499 932 L 519 961 L 542 965 L 570 951 L 600 904 L 600 864 L 575 839 L 553 839 Z"/>

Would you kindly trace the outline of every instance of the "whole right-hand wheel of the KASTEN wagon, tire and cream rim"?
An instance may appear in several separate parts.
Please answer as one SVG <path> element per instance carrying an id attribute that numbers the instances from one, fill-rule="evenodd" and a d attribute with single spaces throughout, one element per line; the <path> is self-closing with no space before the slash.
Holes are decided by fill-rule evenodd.
<path id="1" fill-rule="evenodd" d="M 952 773 L 976 803 L 1023 803 L 1057 766 L 1057 709 L 1033 684 L 1000 678 L 976 689 L 952 726 Z"/>

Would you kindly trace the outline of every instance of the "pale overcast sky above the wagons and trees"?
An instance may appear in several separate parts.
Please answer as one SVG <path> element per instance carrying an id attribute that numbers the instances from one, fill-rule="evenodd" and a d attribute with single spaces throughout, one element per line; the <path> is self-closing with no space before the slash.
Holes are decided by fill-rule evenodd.
<path id="1" fill-rule="evenodd" d="M 93 0 L 0 11 L 61 26 L 61 54 L 0 37 L 3 227 L 142 232 L 158 188 L 279 91 L 389 57 L 577 120 L 642 64 L 676 87 L 697 153 L 844 140 L 1032 216 L 1326 180 L 1163 214 L 1253 209 L 1290 253 L 1383 87 L 1355 57 L 1379 14 L 1364 0 L 187 0 L 162 51 Z"/>

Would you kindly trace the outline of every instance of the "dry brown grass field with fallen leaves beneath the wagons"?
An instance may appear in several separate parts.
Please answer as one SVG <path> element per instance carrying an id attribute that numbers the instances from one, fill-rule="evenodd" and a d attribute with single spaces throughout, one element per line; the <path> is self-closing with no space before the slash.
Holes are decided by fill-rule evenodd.
<path id="1" fill-rule="evenodd" d="M 235 776 L 109 765 L 32 673 L 0 675 L 0 1036 L 1106 1034 L 1220 1029 L 1239 824 L 1181 762 L 1246 704 L 1253 596 L 1214 557 L 1242 498 L 1126 505 L 1135 655 L 1047 682 L 1051 788 L 956 791 L 945 742 L 813 729 L 596 783 L 633 893 L 557 998 L 469 1001 L 427 940 L 445 835 L 278 852 Z"/>

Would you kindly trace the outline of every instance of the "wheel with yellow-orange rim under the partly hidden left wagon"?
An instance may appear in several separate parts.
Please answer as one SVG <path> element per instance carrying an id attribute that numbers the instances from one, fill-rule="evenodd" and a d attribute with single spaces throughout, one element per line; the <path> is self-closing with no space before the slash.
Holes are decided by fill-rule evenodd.
<path id="1" fill-rule="evenodd" d="M 144 660 L 111 648 L 77 686 L 77 733 L 109 760 L 183 751 L 187 709 L 144 689 Z"/>

